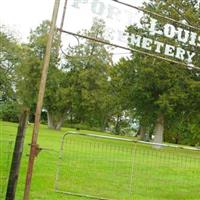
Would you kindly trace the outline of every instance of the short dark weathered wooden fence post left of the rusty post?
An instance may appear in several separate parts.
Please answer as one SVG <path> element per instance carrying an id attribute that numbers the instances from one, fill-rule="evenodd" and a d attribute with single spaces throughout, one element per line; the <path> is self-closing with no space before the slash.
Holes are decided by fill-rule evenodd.
<path id="1" fill-rule="evenodd" d="M 8 180 L 6 200 L 14 200 L 19 176 L 21 157 L 23 153 L 25 129 L 28 121 L 29 109 L 23 109 L 19 119 L 19 126 L 15 140 L 15 148 L 12 156 L 12 164 Z"/>

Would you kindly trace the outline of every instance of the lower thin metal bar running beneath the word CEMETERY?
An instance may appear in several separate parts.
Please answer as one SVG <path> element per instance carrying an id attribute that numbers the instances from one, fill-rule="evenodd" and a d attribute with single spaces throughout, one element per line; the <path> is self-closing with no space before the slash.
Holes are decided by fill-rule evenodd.
<path id="1" fill-rule="evenodd" d="M 58 29 L 58 30 L 63 32 L 63 33 L 69 34 L 69 35 L 74 35 L 74 36 L 77 36 L 77 37 L 81 37 L 81 38 L 84 38 L 84 39 L 87 39 L 87 40 L 92 40 L 92 41 L 95 41 L 95 42 L 98 42 L 98 43 L 102 43 L 102 44 L 105 44 L 105 45 L 113 46 L 113 47 L 124 49 L 124 50 L 134 51 L 134 52 L 137 52 L 137 53 L 140 53 L 140 54 L 143 54 L 143 55 L 147 55 L 147 56 L 151 56 L 151 57 L 154 57 L 154 58 L 162 59 L 162 60 L 165 60 L 167 62 L 172 62 L 172 63 L 178 64 L 178 65 L 181 65 L 181 66 L 185 66 L 185 67 L 189 67 L 189 68 L 200 70 L 200 67 L 196 67 L 196 66 L 193 66 L 193 65 L 188 65 L 188 64 L 183 63 L 183 62 L 171 60 L 169 58 L 164 58 L 162 56 L 158 56 L 158 55 L 155 55 L 155 54 L 152 54 L 152 53 L 147 53 L 147 52 L 144 52 L 144 51 L 141 51 L 141 50 L 138 50 L 138 49 L 124 47 L 124 46 L 117 45 L 117 44 L 114 44 L 114 43 L 111 43 L 111 42 L 108 42 L 108 41 L 105 41 L 105 40 L 102 40 L 102 39 L 93 38 L 93 37 L 89 37 L 89 36 L 86 36 L 86 35 L 81 35 L 81 34 L 78 34 L 78 33 L 73 33 L 71 31 L 66 31 L 66 30 L 63 30 L 63 29 Z"/>

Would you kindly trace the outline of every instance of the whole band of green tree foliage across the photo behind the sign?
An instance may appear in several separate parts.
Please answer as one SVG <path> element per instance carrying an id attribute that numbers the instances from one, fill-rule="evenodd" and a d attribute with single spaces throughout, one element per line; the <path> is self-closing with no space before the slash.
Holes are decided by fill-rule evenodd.
<path id="1" fill-rule="evenodd" d="M 200 13 L 196 3 L 195 0 L 151 0 L 144 7 L 179 21 L 184 19 L 185 23 L 198 27 Z M 149 19 L 149 16 L 145 15 L 144 18 Z M 159 21 L 166 23 L 165 19 Z M 48 21 L 42 22 L 31 31 L 27 44 L 20 44 L 9 31 L 2 29 L 0 32 L 2 106 L 9 112 L 14 112 L 11 108 L 15 104 L 16 107 L 29 107 L 31 121 L 49 28 Z M 142 33 L 136 25 L 128 27 L 127 31 L 152 38 L 148 33 Z M 102 40 L 108 38 L 102 20 L 95 20 L 91 29 L 83 30 L 81 34 Z M 152 39 L 169 42 L 167 38 L 155 37 Z M 170 41 L 170 44 L 182 45 L 176 40 Z M 131 58 L 121 59 L 113 65 L 112 53 L 107 46 L 85 39 L 67 48 L 66 55 L 62 57 L 58 55 L 59 47 L 60 36 L 56 32 L 44 99 L 50 128 L 60 129 L 66 121 L 72 126 L 78 124 L 87 129 L 101 130 L 108 128 L 115 134 L 121 134 L 136 123 L 138 129 L 145 130 L 144 134 L 150 137 L 158 117 L 162 116 L 166 141 L 199 145 L 198 70 L 134 52 Z M 199 49 L 197 51 L 199 53 Z M 195 64 L 199 62 L 197 59 Z M 15 118 L 16 114 L 13 113 L 13 116 Z"/>

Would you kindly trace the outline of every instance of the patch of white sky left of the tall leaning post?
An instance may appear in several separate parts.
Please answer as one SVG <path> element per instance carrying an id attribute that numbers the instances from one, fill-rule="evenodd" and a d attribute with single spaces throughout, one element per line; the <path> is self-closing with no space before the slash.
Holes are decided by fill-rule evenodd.
<path id="1" fill-rule="evenodd" d="M 42 20 L 51 19 L 54 0 L 1 0 L 0 23 L 25 40 Z"/>

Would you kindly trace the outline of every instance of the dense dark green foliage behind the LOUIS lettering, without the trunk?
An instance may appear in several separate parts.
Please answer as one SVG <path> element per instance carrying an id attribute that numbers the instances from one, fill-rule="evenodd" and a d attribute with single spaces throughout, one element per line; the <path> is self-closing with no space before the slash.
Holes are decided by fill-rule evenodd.
<path id="1" fill-rule="evenodd" d="M 197 1 L 151 0 L 145 3 L 145 8 L 157 13 L 165 13 L 178 21 L 184 19 L 186 23 L 198 26 L 199 10 L 194 7 L 194 4 L 197 4 Z M 149 18 L 149 16 L 145 17 Z M 160 23 L 167 23 L 165 19 L 158 20 Z M 141 34 L 137 26 L 130 26 L 127 31 Z M 148 32 L 142 34 L 152 37 Z M 163 40 L 160 36 L 155 37 Z M 164 40 L 172 43 L 166 38 Z M 182 45 L 176 40 L 173 43 L 175 46 Z M 131 43 L 129 45 L 133 47 Z M 155 126 L 157 117 L 162 114 L 165 121 L 166 141 L 198 144 L 199 139 L 196 136 L 199 134 L 199 122 L 195 119 L 199 118 L 200 112 L 199 71 L 158 59 L 150 60 L 149 56 L 138 53 L 133 53 L 130 60 L 123 62 L 123 65 L 130 66 L 128 71 L 131 75 L 124 74 L 124 79 L 128 80 L 127 85 L 130 85 L 128 99 L 132 102 L 130 103 L 132 108 L 135 108 L 135 117 L 140 125 L 145 126 L 150 132 L 152 124 Z M 196 60 L 196 64 L 198 63 L 199 61 Z M 178 130 L 180 128 L 181 131 Z"/>

